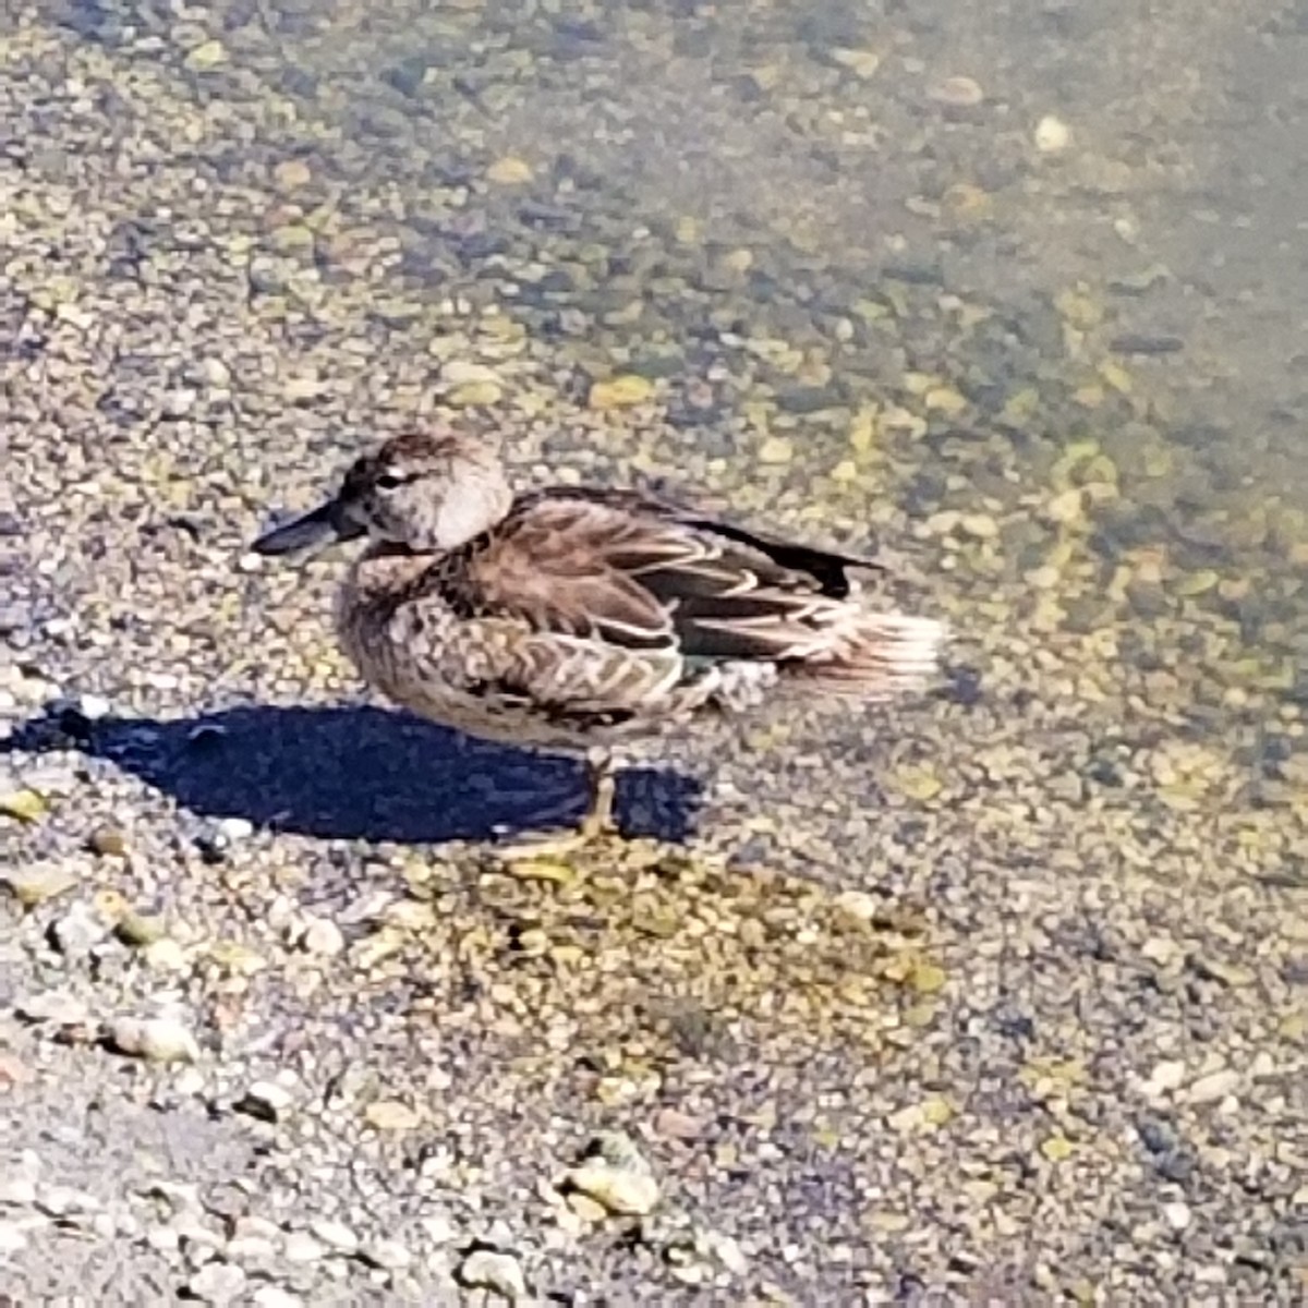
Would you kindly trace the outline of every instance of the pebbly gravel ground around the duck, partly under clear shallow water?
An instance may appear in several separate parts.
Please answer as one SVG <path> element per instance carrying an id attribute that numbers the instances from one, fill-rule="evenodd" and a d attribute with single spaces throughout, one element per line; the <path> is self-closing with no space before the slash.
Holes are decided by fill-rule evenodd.
<path id="1" fill-rule="evenodd" d="M 5 1301 L 1303 1300 L 1303 22 L 1162 8 L 9 10 Z M 948 675 L 504 854 L 243 552 L 433 409 Z"/>

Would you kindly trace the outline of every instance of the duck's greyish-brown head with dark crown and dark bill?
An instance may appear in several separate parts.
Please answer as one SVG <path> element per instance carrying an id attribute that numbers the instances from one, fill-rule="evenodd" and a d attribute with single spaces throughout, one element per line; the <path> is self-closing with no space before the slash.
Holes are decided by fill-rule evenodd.
<path id="1" fill-rule="evenodd" d="M 493 450 L 430 428 L 356 459 L 331 500 L 264 532 L 250 548 L 285 555 L 366 535 L 413 553 L 441 553 L 488 531 L 511 504 Z"/>

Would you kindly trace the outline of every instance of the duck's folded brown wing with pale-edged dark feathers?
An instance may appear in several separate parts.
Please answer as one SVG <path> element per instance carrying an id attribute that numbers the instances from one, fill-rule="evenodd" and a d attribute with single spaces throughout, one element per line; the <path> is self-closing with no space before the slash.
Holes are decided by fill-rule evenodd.
<path id="1" fill-rule="evenodd" d="M 848 625 L 846 569 L 871 560 L 756 535 L 640 492 L 522 496 L 442 568 L 468 616 L 697 663 L 812 657 Z"/>

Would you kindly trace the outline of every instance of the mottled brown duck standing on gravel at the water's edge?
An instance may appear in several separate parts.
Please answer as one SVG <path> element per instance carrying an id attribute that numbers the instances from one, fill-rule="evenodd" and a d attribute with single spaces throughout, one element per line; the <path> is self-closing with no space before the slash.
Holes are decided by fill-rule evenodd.
<path id="1" fill-rule="evenodd" d="M 937 619 L 866 602 L 871 557 L 642 489 L 515 490 L 485 439 L 439 422 L 356 458 L 250 548 L 349 542 L 335 628 L 362 680 L 464 735 L 579 753 L 581 840 L 616 832 L 624 739 L 897 698 L 927 685 L 946 640 Z"/>

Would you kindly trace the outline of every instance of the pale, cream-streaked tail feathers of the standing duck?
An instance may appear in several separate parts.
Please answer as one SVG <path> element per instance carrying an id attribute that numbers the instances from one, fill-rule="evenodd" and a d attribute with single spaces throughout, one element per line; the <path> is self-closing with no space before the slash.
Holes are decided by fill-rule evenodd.
<path id="1" fill-rule="evenodd" d="M 879 701 L 923 689 L 939 668 L 948 632 L 934 617 L 863 612 L 832 634 L 824 650 L 786 671 L 827 695 Z"/>

